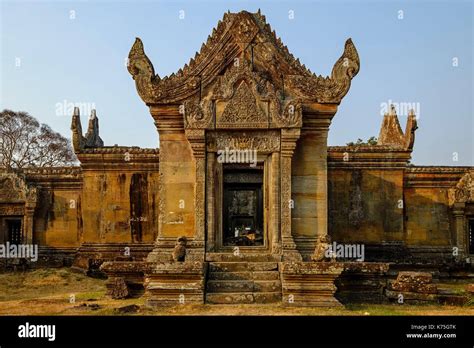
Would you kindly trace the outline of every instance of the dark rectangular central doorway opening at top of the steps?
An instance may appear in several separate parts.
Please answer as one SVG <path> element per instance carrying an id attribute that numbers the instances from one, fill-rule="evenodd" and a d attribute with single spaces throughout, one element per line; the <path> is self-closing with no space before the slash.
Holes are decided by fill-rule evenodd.
<path id="1" fill-rule="evenodd" d="M 263 168 L 224 167 L 223 192 L 223 245 L 264 245 Z"/>

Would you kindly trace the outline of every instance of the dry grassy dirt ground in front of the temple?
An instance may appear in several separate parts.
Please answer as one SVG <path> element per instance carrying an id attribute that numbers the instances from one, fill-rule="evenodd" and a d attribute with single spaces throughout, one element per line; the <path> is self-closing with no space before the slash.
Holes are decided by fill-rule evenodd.
<path id="1" fill-rule="evenodd" d="M 135 305 L 135 306 L 132 306 Z M 120 310 L 129 307 L 131 312 Z M 127 308 L 125 308 L 126 310 Z M 135 310 L 134 310 L 135 309 Z M 143 298 L 112 300 L 105 281 L 67 268 L 0 274 L 0 315 L 474 315 L 474 305 L 349 305 L 295 308 L 268 305 L 188 305 L 150 309 Z"/>

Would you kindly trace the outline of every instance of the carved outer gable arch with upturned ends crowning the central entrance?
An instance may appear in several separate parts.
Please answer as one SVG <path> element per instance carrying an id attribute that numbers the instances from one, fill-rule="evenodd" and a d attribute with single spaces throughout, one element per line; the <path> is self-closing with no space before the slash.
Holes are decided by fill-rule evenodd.
<path id="1" fill-rule="evenodd" d="M 164 78 L 155 75 L 139 38 L 130 50 L 128 71 L 146 104 L 183 103 L 191 97 L 199 99 L 202 91 L 239 58 L 250 60 L 252 71 L 267 74 L 282 100 L 288 93 L 296 99 L 320 103 L 339 103 L 360 66 L 357 50 L 349 39 L 331 76 L 316 76 L 288 51 L 260 11 L 242 11 L 224 14 L 200 52 L 176 74 Z"/>

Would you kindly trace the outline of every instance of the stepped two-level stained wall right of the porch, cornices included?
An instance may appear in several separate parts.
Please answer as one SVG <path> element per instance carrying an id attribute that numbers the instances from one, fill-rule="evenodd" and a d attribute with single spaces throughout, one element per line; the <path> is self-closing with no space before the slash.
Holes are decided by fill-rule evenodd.
<path id="1" fill-rule="evenodd" d="M 449 190 L 469 168 L 410 166 L 403 158 L 382 147 L 330 148 L 329 234 L 366 244 L 374 259 L 452 258 Z"/>

